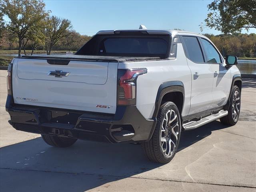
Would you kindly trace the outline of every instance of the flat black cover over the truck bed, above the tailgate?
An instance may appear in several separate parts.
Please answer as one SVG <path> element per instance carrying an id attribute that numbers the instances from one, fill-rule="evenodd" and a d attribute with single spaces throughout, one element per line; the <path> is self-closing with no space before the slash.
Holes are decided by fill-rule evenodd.
<path id="1" fill-rule="evenodd" d="M 119 56 L 94 56 L 94 55 L 24 55 L 26 59 L 68 59 L 84 61 L 104 61 L 104 62 L 136 62 L 148 60 L 161 60 L 160 57 L 119 57 Z"/>

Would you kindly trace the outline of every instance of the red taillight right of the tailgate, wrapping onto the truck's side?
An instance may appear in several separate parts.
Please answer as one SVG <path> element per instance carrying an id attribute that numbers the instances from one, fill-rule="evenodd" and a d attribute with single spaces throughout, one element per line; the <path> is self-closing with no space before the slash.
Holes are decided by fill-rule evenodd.
<path id="1" fill-rule="evenodd" d="M 146 72 L 146 69 L 118 70 L 118 105 L 136 104 L 136 79 Z"/>

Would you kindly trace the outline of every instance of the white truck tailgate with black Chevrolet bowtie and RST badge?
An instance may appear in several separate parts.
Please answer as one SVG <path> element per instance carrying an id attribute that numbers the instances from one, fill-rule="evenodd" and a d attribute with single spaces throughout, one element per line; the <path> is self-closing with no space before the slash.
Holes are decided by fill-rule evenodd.
<path id="1" fill-rule="evenodd" d="M 116 112 L 117 62 L 70 60 L 67 65 L 50 63 L 46 58 L 15 58 L 14 103 Z"/>

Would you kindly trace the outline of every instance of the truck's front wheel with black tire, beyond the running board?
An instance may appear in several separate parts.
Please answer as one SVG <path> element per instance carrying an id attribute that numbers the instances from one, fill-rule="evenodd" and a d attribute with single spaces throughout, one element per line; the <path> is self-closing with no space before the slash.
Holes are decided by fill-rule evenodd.
<path id="1" fill-rule="evenodd" d="M 238 94 L 238 95 L 237 95 Z M 236 100 L 238 98 L 238 100 Z M 238 86 L 233 86 L 228 107 L 228 115 L 220 118 L 220 122 L 224 125 L 235 125 L 238 122 L 239 114 L 240 114 L 240 106 L 241 106 L 241 94 Z M 235 112 L 236 115 L 235 115 Z M 235 118 L 236 116 L 236 118 Z"/>

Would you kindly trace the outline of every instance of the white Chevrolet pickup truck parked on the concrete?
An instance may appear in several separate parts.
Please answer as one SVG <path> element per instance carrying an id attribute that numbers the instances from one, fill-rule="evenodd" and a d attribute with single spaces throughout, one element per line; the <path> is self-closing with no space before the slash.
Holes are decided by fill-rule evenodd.
<path id="1" fill-rule="evenodd" d="M 141 142 L 167 163 L 182 131 L 240 113 L 235 56 L 176 30 L 98 32 L 74 55 L 21 56 L 8 68 L 6 110 L 16 129 L 68 147 L 77 139 Z"/>

